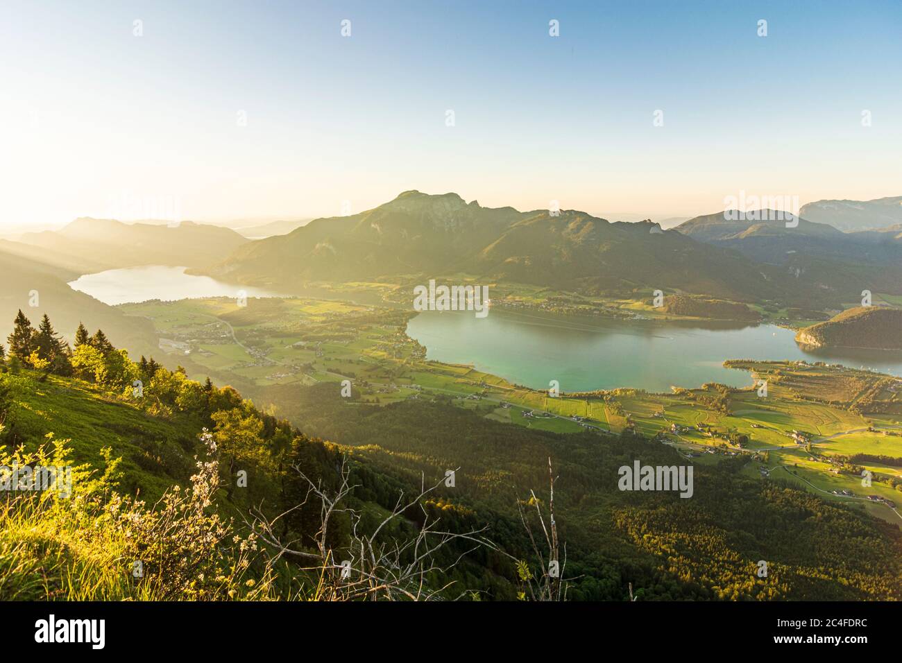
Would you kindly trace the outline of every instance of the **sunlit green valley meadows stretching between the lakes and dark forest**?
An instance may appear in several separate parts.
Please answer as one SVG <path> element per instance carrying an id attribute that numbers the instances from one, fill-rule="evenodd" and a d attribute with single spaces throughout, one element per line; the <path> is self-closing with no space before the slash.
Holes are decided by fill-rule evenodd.
<path id="1" fill-rule="evenodd" d="M 395 292 L 383 290 L 387 297 Z M 527 287 L 511 292 L 536 301 L 552 294 Z M 607 303 L 643 308 L 635 301 Z M 212 374 L 219 382 L 251 385 L 262 394 L 264 405 L 269 387 L 350 380 L 361 401 L 380 405 L 449 399 L 486 419 L 537 430 L 572 433 L 588 428 L 601 434 L 631 428 L 657 436 L 703 464 L 716 463 L 724 455 L 757 453 L 759 461 L 743 469 L 754 477 L 761 476 L 760 457 L 767 455 L 772 477 L 805 485 L 815 493 L 825 491 L 821 494 L 830 499 L 856 503 L 897 524 L 902 521 L 886 505 L 861 499 L 858 475 L 869 469 L 883 480 L 895 480 L 902 479 L 902 471 L 876 462 L 848 461 L 855 454 L 902 457 L 902 436 L 888 434 L 902 431 L 902 401 L 886 388 L 887 376 L 878 373 L 818 364 L 732 362 L 733 368 L 750 372 L 756 380 L 767 380 L 768 396 L 761 398 L 747 388 L 728 389 L 723 397 L 704 389 L 552 397 L 473 366 L 427 361 L 425 348 L 403 331 L 409 314 L 397 308 L 304 298 L 252 299 L 246 308 L 225 298 L 122 308 L 130 315 L 151 318 L 161 336 L 176 344 L 167 347 L 179 355 L 191 377 Z M 864 403 L 879 411 L 862 413 L 859 406 Z M 805 433 L 811 446 L 796 444 L 790 437 L 793 431 Z M 741 446 L 736 443 L 739 439 L 744 440 Z M 833 495 L 833 490 L 851 491 L 859 499 Z M 888 483 L 875 482 L 869 490 L 868 494 L 897 496 L 902 502 L 902 493 Z"/>

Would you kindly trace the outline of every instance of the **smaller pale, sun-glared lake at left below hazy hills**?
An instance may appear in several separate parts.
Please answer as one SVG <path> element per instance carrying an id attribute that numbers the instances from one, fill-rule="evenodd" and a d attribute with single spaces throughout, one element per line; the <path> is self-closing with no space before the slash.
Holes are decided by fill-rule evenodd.
<path id="1" fill-rule="evenodd" d="M 186 274 L 187 267 L 148 265 L 120 270 L 106 270 L 85 274 L 69 281 L 72 290 L 79 290 L 94 299 L 115 306 L 133 304 L 149 299 L 175 301 L 198 297 L 238 297 L 244 291 L 247 297 L 279 297 L 275 292 L 216 281 L 208 276 Z"/>

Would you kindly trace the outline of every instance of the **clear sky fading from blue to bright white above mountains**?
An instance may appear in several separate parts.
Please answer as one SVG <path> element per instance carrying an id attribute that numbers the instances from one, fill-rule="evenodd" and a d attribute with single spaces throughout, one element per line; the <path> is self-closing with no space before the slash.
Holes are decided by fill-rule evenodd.
<path id="1" fill-rule="evenodd" d="M 900 34 L 897 0 L 4 0 L 0 227 L 898 196 Z"/>

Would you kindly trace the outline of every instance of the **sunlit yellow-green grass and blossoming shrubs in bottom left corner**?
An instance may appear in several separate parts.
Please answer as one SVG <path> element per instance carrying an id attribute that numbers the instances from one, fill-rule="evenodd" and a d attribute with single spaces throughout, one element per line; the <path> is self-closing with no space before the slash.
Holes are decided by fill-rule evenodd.
<path id="1" fill-rule="evenodd" d="M 253 536 L 242 538 L 213 508 L 218 461 L 198 460 L 189 488 L 175 486 L 153 509 L 115 493 L 118 459 L 102 474 L 70 465 L 69 440 L 37 451 L 0 447 L 0 465 L 68 467 L 65 490 L 7 492 L 0 506 L 0 600 L 227 600 L 272 594 L 272 567 Z M 136 562 L 140 566 L 135 565 Z M 140 573 L 135 574 L 139 568 Z M 253 570 L 259 573 L 254 576 Z"/>

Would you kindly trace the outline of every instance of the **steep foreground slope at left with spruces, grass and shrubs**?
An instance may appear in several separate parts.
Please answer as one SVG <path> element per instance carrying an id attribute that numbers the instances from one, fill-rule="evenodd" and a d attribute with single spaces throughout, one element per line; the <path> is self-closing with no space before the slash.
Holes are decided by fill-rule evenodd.
<path id="1" fill-rule="evenodd" d="M 76 336 L 69 348 L 49 319 L 33 328 L 21 316 L 2 353 L 0 481 L 12 492 L 0 509 L 0 598 L 401 598 L 419 595 L 420 576 L 430 595 L 454 597 L 465 579 L 516 594 L 515 566 L 481 534 L 476 555 L 458 559 L 469 544 L 428 531 L 439 521 L 446 531 L 455 511 L 420 483 L 304 436 L 230 387 L 132 362 L 102 330 Z M 68 494 L 17 491 L 9 468 L 23 465 L 72 467 Z M 324 515 L 339 495 L 340 511 Z M 359 557 L 361 532 L 372 563 Z M 405 538 L 428 541 L 425 566 L 377 550 Z M 344 559 L 360 579 L 342 582 Z M 410 572 L 398 576 L 399 564 Z"/>

